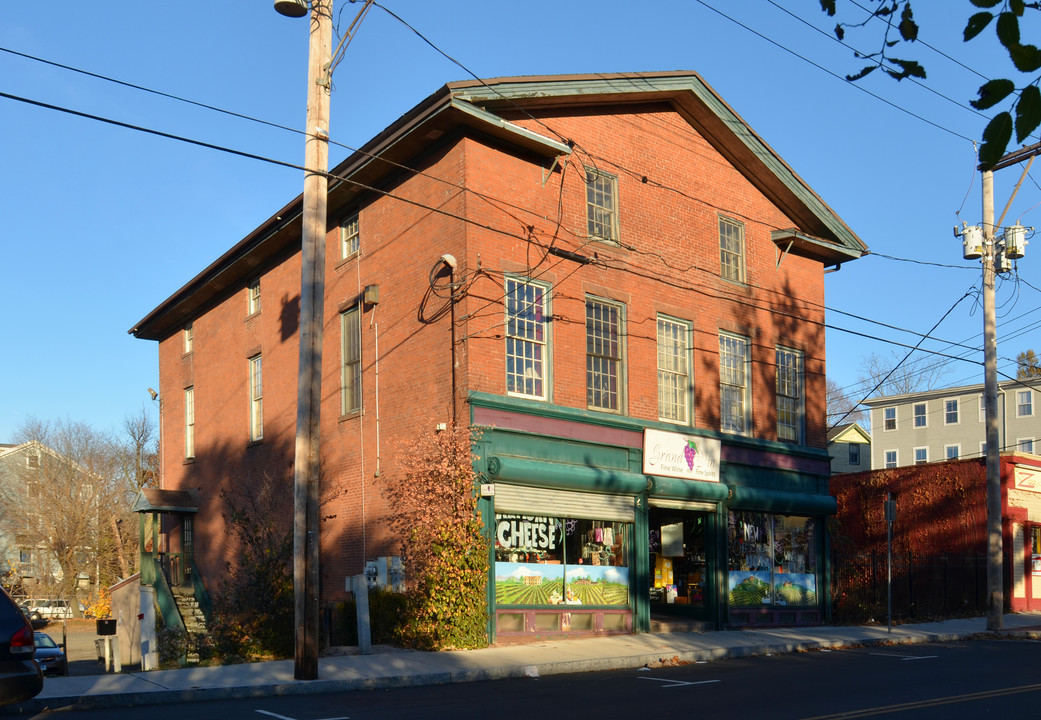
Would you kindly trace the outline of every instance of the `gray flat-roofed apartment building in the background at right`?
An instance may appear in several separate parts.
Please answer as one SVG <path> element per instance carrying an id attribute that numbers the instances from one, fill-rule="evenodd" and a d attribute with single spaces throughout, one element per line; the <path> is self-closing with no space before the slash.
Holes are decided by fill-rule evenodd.
<path id="1" fill-rule="evenodd" d="M 1002 452 L 1041 453 L 1041 379 L 1007 380 L 997 386 L 997 433 Z M 987 451 L 984 386 L 872 397 L 871 467 L 902 467 Z"/>

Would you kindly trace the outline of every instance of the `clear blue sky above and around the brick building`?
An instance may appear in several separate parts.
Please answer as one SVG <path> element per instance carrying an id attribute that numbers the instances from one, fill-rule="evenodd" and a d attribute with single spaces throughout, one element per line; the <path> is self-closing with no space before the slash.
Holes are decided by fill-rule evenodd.
<path id="1" fill-rule="evenodd" d="M 980 267 L 962 259 L 951 229 L 981 221 L 971 139 L 986 119 L 967 107 L 982 82 L 975 73 L 1007 77 L 1009 65 L 989 32 L 962 43 L 967 1 L 916 3 L 920 38 L 949 56 L 910 51 L 929 70 L 924 82 L 875 73 L 857 85 L 842 76 L 861 62 L 833 40 L 835 21 L 816 0 L 382 2 L 445 54 L 374 6 L 333 78 L 334 142 L 359 147 L 471 73 L 693 70 L 875 253 L 828 276 L 830 378 L 856 394 L 865 356 L 903 356 L 892 342 L 916 343 L 913 333 L 929 332 L 963 298 L 935 335 L 982 348 L 971 294 Z M 842 6 L 856 18 L 855 5 Z M 341 28 L 359 7 L 337 1 Z M 869 52 L 877 37 L 847 40 Z M 0 49 L 0 93 L 302 161 L 296 133 L 11 52 L 301 128 L 307 24 L 268 0 L 104 10 L 79 0 L 5 2 Z M 334 147 L 331 162 L 347 154 Z M 1019 173 L 997 174 L 998 213 Z M 0 442 L 30 416 L 102 431 L 142 407 L 157 419 L 147 392 L 158 387 L 156 343 L 127 330 L 301 188 L 299 171 L 0 97 Z M 1039 202 L 1027 178 L 1009 222 L 1041 226 Z M 999 371 L 1009 375 L 1017 353 L 1041 351 L 1041 257 L 1030 251 L 1018 281 L 998 286 Z M 969 355 L 982 361 L 982 351 Z M 982 381 L 979 364 L 957 362 L 943 384 Z"/>

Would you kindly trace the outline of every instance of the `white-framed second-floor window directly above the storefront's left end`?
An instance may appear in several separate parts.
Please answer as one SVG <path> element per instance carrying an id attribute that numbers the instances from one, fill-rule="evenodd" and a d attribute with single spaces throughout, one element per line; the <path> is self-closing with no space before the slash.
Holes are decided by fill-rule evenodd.
<path id="1" fill-rule="evenodd" d="M 547 288 L 506 279 L 506 391 L 545 400 Z"/>

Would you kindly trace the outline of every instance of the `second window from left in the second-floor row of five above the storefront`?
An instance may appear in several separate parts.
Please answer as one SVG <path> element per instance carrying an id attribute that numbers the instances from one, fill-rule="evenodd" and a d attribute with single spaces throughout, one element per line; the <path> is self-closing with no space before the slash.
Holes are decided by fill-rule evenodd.
<path id="1" fill-rule="evenodd" d="M 586 299 L 586 404 L 621 409 L 623 306 Z"/>

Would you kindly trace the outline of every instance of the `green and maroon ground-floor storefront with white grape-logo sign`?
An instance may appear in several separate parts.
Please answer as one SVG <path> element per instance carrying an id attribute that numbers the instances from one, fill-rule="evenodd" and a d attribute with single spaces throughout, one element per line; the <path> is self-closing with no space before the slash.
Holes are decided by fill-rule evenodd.
<path id="1" fill-rule="evenodd" d="M 835 502 L 786 447 L 480 410 L 492 639 L 824 619 Z"/>

